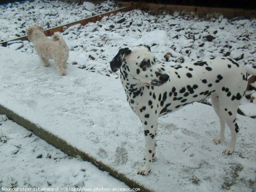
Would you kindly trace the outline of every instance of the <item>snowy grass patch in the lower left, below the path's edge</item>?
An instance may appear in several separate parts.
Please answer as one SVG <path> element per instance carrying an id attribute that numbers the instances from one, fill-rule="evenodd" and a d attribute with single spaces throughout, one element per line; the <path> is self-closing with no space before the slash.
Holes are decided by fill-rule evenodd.
<path id="1" fill-rule="evenodd" d="M 1 114 L 0 165 L 0 191 L 5 191 L 2 187 L 130 189 L 107 172 L 79 157 L 67 156 Z"/>

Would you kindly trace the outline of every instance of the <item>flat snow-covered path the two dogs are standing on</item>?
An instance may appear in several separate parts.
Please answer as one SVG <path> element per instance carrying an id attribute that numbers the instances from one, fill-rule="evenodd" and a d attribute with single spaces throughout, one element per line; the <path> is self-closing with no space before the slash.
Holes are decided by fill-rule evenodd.
<path id="1" fill-rule="evenodd" d="M 250 191 L 255 189 L 256 119 L 238 116 L 236 152 L 223 155 L 230 139 L 213 145 L 218 118 L 195 103 L 159 119 L 157 161 L 143 165 L 144 136 L 119 80 L 68 66 L 43 67 L 36 55 L 0 47 L 0 105 L 90 154 L 141 186 L 157 191 Z"/>

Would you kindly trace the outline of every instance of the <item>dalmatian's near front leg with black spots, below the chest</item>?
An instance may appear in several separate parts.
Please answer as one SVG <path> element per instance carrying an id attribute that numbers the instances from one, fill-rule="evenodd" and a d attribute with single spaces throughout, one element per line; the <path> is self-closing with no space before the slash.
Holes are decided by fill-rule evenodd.
<path id="1" fill-rule="evenodd" d="M 147 119 L 149 120 L 149 119 Z M 149 122 L 143 119 L 143 128 L 146 142 L 146 156 L 145 156 L 145 165 L 139 170 L 138 174 L 148 175 L 151 171 L 151 163 L 155 159 L 155 147 L 156 147 L 156 134 L 157 134 L 157 119 L 155 122 L 150 120 Z M 152 123 L 150 123 L 152 122 Z"/>

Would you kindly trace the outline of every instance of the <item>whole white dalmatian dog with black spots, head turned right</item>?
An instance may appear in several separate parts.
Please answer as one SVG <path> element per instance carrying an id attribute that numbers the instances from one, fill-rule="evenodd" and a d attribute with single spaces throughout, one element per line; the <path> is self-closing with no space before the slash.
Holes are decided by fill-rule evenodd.
<path id="1" fill-rule="evenodd" d="M 227 57 L 158 65 L 150 47 L 145 45 L 120 49 L 110 66 L 113 72 L 120 69 L 127 101 L 144 128 L 146 162 L 138 174 L 148 175 L 155 159 L 158 117 L 207 97 L 210 97 L 221 125 L 213 142 L 218 144 L 224 140 L 227 124 L 231 140 L 223 153 L 233 153 L 239 132 L 237 109 L 247 87 L 247 76 L 255 76 L 256 69 Z"/>

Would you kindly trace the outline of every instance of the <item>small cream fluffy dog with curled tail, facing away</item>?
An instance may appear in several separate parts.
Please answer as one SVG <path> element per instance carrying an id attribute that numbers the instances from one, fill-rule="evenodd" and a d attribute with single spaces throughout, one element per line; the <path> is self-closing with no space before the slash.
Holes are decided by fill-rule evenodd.
<path id="1" fill-rule="evenodd" d="M 48 60 L 53 59 L 61 75 L 66 74 L 69 49 L 59 32 L 55 32 L 50 39 L 44 35 L 42 26 L 31 26 L 27 31 L 27 37 L 33 43 L 45 67 L 49 66 Z"/>

